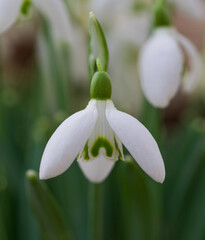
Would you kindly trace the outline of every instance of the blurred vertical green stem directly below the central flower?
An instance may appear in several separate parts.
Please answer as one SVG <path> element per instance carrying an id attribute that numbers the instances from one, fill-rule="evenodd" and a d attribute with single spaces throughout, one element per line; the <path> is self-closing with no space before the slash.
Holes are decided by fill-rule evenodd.
<path id="1" fill-rule="evenodd" d="M 89 185 L 88 240 L 102 240 L 103 233 L 103 185 Z"/>

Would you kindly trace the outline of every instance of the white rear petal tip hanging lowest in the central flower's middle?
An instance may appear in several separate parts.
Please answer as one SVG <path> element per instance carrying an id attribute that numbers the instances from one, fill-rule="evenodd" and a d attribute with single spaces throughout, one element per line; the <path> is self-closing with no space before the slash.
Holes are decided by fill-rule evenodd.
<path id="1" fill-rule="evenodd" d="M 106 160 L 103 156 L 92 161 L 78 159 L 80 168 L 88 180 L 94 183 L 102 182 L 112 170 L 115 161 Z"/>

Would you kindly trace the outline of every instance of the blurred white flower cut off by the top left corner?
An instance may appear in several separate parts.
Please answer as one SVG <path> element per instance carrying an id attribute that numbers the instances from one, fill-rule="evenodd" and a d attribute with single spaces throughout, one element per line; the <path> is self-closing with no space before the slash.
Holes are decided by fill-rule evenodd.
<path id="1" fill-rule="evenodd" d="M 62 0 L 31 0 L 31 2 L 49 20 L 55 39 L 73 42 L 72 26 Z M 0 0 L 0 33 L 15 23 L 24 3 L 27 1 Z"/>

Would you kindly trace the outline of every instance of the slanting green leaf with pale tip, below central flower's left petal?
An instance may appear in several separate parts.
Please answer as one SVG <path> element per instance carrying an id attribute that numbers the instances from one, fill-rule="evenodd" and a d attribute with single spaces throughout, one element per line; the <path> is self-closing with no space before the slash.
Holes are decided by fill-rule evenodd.
<path id="1" fill-rule="evenodd" d="M 47 188 L 38 179 L 37 173 L 28 170 L 26 173 L 28 199 L 46 240 L 71 239 L 61 210 Z"/>

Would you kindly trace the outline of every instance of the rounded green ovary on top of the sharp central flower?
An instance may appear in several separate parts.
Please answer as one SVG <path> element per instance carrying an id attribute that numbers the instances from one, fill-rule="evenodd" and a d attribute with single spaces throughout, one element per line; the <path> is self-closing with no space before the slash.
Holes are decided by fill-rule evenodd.
<path id="1" fill-rule="evenodd" d="M 90 86 L 90 96 L 96 100 L 107 100 L 111 98 L 112 85 L 109 75 L 104 71 L 96 72 Z"/>

